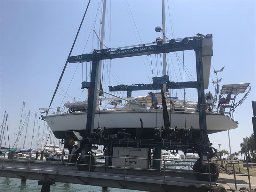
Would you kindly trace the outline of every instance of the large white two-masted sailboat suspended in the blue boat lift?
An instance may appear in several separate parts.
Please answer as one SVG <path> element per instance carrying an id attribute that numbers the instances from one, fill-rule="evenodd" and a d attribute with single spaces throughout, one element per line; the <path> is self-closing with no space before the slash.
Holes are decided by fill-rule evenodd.
<path id="1" fill-rule="evenodd" d="M 164 11 L 164 3 L 162 3 Z M 101 36 L 100 36 L 100 50 L 103 49 L 104 41 L 104 25 L 105 25 L 105 12 L 106 12 L 106 0 L 103 1 L 103 13 L 101 21 Z M 163 39 L 165 36 L 165 23 L 163 12 Z M 180 40 L 180 39 L 179 39 Z M 182 40 L 182 39 L 181 39 Z M 207 35 L 203 38 L 203 65 L 204 65 L 204 86 L 208 89 L 210 68 L 212 57 L 212 35 Z M 163 60 L 163 69 L 166 70 L 166 60 Z M 100 90 L 100 74 L 101 63 L 99 66 L 99 80 L 98 80 L 98 94 Z M 164 74 L 164 73 L 163 73 Z M 107 93 L 107 92 L 105 92 Z M 109 93 L 107 93 L 109 94 Z M 112 94 L 110 94 L 112 95 Z M 162 104 L 161 94 L 156 93 L 158 98 L 158 105 Z M 112 95 L 113 96 L 113 95 Z M 209 96 L 209 95 L 207 95 Z M 184 100 L 175 100 L 168 98 L 168 93 L 165 93 L 166 103 L 169 104 L 168 114 L 171 127 L 178 127 L 180 129 L 193 127 L 193 129 L 199 129 L 199 115 L 196 102 L 189 102 Z M 210 100 L 214 98 L 211 97 Z M 126 103 L 122 104 L 122 107 L 116 107 L 109 109 L 95 111 L 94 130 L 98 127 L 106 127 L 109 133 L 116 134 L 121 129 L 126 129 L 126 132 L 131 134 L 131 138 L 135 137 L 137 128 L 140 128 L 141 118 L 143 121 L 144 138 L 152 138 L 154 129 L 156 127 L 164 126 L 163 110 L 162 108 L 150 108 L 151 98 L 149 95 L 130 97 L 130 98 L 110 98 L 102 99 L 112 100 L 116 105 L 119 104 L 117 100 L 124 100 Z M 97 98 L 97 104 L 99 98 Z M 206 122 L 207 133 L 216 133 L 225 130 L 237 128 L 237 124 L 224 113 L 220 111 L 213 112 L 212 108 L 216 106 L 214 101 L 208 103 L 208 109 L 206 109 Z M 64 104 L 66 110 L 60 112 L 60 108 L 55 111 L 45 108 L 41 109 L 42 118 L 47 122 L 56 138 L 63 139 L 66 131 L 80 132 L 81 135 L 85 134 L 86 119 L 87 119 L 87 101 L 67 102 Z M 185 120 L 184 120 L 184 117 Z"/>

